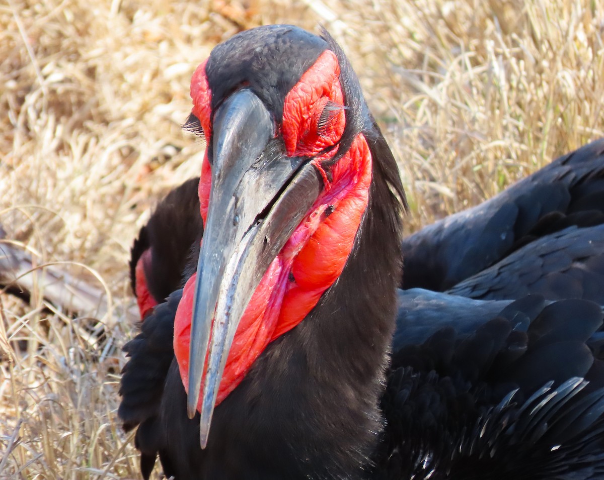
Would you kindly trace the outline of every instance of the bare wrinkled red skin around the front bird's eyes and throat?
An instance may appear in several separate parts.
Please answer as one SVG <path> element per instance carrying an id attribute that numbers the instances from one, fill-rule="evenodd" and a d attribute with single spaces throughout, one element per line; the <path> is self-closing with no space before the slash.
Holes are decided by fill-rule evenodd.
<path id="1" fill-rule="evenodd" d="M 211 92 L 205 78 L 205 63 L 193 75 L 191 98 L 193 113 L 209 138 Z M 327 124 L 320 131 L 318 128 L 328 101 L 339 105 L 343 102 L 338 60 L 329 50 L 304 73 L 284 101 L 281 134 L 289 156 L 315 156 L 339 141 L 345 126 L 343 107 L 330 111 Z M 336 152 L 337 148 L 332 148 L 312 160 L 323 175 L 324 189 L 252 294 L 228 354 L 216 405 L 239 385 L 271 341 L 309 314 L 344 269 L 368 203 L 371 154 L 365 137 L 359 134 L 350 150 L 330 167 L 329 181 L 321 163 L 332 159 Z M 204 221 L 210 186 L 211 170 L 206 154 L 199 182 Z M 187 391 L 195 277 L 193 274 L 185 284 L 174 324 L 174 351 Z"/>

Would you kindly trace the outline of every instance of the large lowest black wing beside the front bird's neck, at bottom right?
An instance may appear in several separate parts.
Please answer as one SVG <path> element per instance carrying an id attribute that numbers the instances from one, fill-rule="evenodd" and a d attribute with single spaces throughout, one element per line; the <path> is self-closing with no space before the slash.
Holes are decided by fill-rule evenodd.
<path id="1" fill-rule="evenodd" d="M 602 335 L 599 305 L 420 289 L 399 303 L 382 478 L 599 478 L 604 377 L 590 348 Z"/>

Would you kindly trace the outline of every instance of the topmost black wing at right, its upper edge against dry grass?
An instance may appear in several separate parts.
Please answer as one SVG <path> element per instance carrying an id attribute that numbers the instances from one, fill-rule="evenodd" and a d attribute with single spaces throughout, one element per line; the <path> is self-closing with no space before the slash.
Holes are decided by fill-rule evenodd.
<path id="1" fill-rule="evenodd" d="M 603 197 L 601 139 L 405 238 L 403 288 L 444 291 L 543 235 L 601 224 Z"/>

